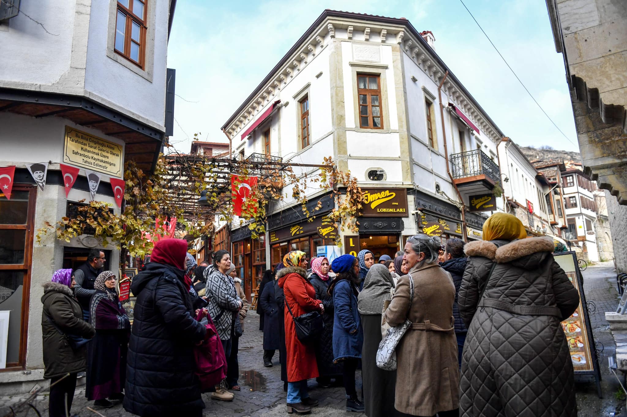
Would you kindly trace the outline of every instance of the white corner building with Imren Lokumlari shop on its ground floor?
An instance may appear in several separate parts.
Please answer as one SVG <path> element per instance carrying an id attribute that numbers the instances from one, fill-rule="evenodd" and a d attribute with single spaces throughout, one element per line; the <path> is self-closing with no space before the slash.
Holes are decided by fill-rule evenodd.
<path id="1" fill-rule="evenodd" d="M 503 133 L 434 42 L 433 33 L 417 31 L 407 19 L 325 10 L 225 121 L 235 155 L 303 164 L 330 156 L 366 192 L 356 234 L 329 232 L 328 190 L 308 184 L 308 204 L 322 202 L 309 222 L 285 187 L 284 198 L 268 207 L 266 267 L 289 250 L 322 254 L 335 237 L 343 242 L 340 253 L 369 249 L 377 260 L 393 257 L 429 225 L 438 225 L 443 240 L 480 239 L 487 215 L 503 210 L 502 198 L 483 212 L 469 210 L 471 200 L 492 196 L 500 182 Z M 319 168 L 293 170 L 312 177 Z M 246 227 L 231 227 L 233 253 L 243 244 L 241 277 L 254 291 L 257 257 L 239 237 Z"/>

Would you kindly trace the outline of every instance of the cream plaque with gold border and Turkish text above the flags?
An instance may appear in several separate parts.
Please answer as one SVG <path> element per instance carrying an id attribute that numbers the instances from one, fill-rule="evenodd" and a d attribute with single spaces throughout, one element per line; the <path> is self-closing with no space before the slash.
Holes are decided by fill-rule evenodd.
<path id="1" fill-rule="evenodd" d="M 122 145 L 65 126 L 63 162 L 122 178 L 123 152 Z"/>

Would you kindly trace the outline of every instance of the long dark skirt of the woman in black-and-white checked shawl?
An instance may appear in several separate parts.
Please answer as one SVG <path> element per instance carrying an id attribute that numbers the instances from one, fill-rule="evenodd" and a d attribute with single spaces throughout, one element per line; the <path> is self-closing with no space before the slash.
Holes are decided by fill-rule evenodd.
<path id="1" fill-rule="evenodd" d="M 377 349 L 381 342 L 381 315 L 362 314 L 364 346 L 361 351 L 364 383 L 364 405 L 367 417 L 404 416 L 394 408 L 396 371 L 384 371 L 377 367 Z"/>

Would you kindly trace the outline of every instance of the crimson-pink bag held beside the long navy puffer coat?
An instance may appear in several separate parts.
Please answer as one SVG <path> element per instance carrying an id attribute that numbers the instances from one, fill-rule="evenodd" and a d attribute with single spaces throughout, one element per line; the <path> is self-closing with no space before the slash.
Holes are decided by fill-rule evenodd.
<path id="1" fill-rule="evenodd" d="M 196 320 L 201 321 L 200 314 Z M 200 378 L 201 391 L 207 392 L 210 388 L 219 385 L 226 378 L 226 356 L 220 336 L 216 331 L 211 317 L 207 316 L 208 323 L 205 325 L 207 334 L 204 336 L 203 344 L 194 346 L 194 359 L 196 359 L 196 375 Z"/>

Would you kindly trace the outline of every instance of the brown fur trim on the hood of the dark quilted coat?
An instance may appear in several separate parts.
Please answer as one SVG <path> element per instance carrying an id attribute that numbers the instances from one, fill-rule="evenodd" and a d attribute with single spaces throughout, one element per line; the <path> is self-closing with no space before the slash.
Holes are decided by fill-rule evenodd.
<path id="1" fill-rule="evenodd" d="M 513 262 L 517 267 L 533 269 L 554 249 L 555 244 L 550 237 L 528 237 L 504 245 L 487 240 L 470 242 L 464 247 L 464 253 L 495 260 L 498 264 Z"/>

